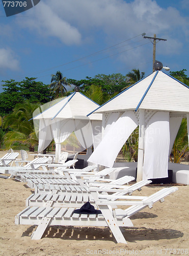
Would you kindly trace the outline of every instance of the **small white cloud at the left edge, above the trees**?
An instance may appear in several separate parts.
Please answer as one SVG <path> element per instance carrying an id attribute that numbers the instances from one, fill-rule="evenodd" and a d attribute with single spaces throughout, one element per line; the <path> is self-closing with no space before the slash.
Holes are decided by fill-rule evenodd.
<path id="1" fill-rule="evenodd" d="M 10 49 L 1 48 L 0 49 L 0 68 L 18 70 L 19 61 L 16 59 L 15 54 Z"/>

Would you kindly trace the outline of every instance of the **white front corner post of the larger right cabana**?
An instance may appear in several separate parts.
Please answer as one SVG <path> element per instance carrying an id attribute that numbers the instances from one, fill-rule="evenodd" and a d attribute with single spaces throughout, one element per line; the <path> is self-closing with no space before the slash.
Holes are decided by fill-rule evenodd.
<path id="1" fill-rule="evenodd" d="M 139 148 L 137 164 L 137 182 L 143 179 L 144 160 L 144 131 L 145 131 L 145 110 L 139 110 Z"/>

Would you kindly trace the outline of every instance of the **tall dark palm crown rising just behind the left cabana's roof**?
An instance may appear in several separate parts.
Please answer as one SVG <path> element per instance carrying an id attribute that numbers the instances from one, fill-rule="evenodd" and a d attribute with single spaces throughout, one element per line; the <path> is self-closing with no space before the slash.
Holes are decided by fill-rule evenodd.
<path id="1" fill-rule="evenodd" d="M 51 75 L 51 83 L 49 84 L 49 87 L 52 91 L 52 94 L 55 93 L 55 98 L 58 96 L 64 96 L 64 94 L 67 92 L 67 89 L 65 86 L 71 85 L 66 81 L 66 77 L 63 76 L 63 74 L 60 71 L 57 71 L 56 75 Z"/>

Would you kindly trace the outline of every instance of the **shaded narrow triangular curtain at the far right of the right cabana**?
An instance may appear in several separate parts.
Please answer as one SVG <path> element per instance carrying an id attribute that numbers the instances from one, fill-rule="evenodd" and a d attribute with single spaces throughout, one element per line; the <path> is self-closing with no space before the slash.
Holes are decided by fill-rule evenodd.
<path id="1" fill-rule="evenodd" d="M 171 154 L 175 138 L 177 136 L 180 124 L 182 122 L 182 117 L 170 117 L 169 127 L 170 127 L 170 146 L 169 146 L 169 156 Z"/>

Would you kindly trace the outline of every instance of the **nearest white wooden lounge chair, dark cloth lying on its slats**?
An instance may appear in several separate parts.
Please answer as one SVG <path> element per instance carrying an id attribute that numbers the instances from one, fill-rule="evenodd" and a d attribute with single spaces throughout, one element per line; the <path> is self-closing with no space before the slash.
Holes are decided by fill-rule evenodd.
<path id="1" fill-rule="evenodd" d="M 72 207 L 69 202 L 66 204 L 65 199 L 63 199 L 64 207 L 61 207 L 61 205 L 60 207 L 52 207 L 52 202 L 54 201 L 48 200 L 46 201 L 45 206 L 29 206 L 22 210 L 18 215 L 16 215 L 15 224 L 38 225 L 36 231 L 32 234 L 33 240 L 41 239 L 47 226 L 108 226 L 110 227 L 116 241 L 118 243 L 126 244 L 127 242 L 119 227 L 132 227 L 133 224 L 128 218 L 128 215 L 126 215 L 126 211 L 122 214 L 121 211 L 116 211 L 114 208 L 116 209 L 118 205 L 131 205 L 133 208 L 149 206 L 151 208 L 153 206 L 153 202 L 156 202 L 156 200 L 163 202 L 164 197 L 170 195 L 176 190 L 176 187 L 168 189 L 165 188 L 164 192 L 158 191 L 158 196 L 157 193 L 150 197 L 121 196 L 120 199 L 124 199 L 124 201 L 111 201 L 110 199 L 107 200 L 105 198 L 106 195 L 98 196 L 98 194 L 92 189 L 92 195 L 94 196 L 94 201 L 92 203 L 94 203 L 95 206 L 98 206 L 101 210 L 101 214 L 99 215 L 75 214 L 75 207 Z M 101 198 L 102 196 L 104 196 L 105 199 Z M 109 197 L 111 198 L 111 195 L 109 195 Z M 74 199 L 72 200 L 73 203 L 76 204 L 76 201 L 74 201 Z M 61 202 L 59 203 L 61 204 Z"/>

